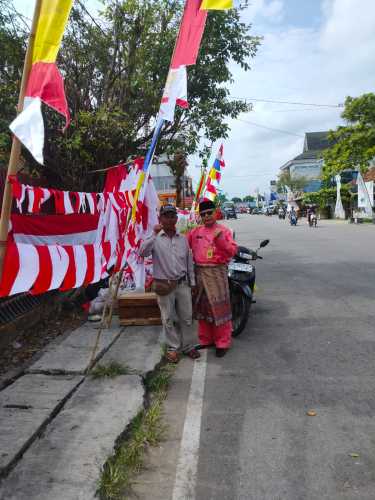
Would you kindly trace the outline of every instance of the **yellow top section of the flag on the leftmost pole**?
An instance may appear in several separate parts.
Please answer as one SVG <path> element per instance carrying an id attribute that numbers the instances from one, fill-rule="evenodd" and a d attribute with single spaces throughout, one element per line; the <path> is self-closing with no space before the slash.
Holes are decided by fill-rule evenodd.
<path id="1" fill-rule="evenodd" d="M 56 61 L 73 0 L 42 0 L 32 62 Z"/>

